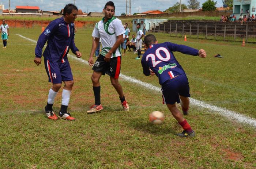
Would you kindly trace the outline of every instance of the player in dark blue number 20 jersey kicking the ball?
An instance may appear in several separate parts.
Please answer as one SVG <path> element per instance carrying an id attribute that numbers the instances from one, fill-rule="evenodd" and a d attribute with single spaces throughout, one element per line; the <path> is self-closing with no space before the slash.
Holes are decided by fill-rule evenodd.
<path id="1" fill-rule="evenodd" d="M 195 131 L 192 130 L 187 120 L 176 107 L 176 102 L 180 103 L 184 115 L 188 114 L 189 108 L 189 85 L 186 73 L 182 69 L 173 55 L 173 51 L 183 54 L 190 54 L 201 58 L 206 57 L 203 49 L 197 50 L 185 45 L 177 45 L 171 42 L 158 43 L 154 35 L 147 35 L 144 38 L 147 51 L 143 54 L 142 66 L 146 76 L 156 75 L 162 85 L 163 104 L 166 104 L 172 112 L 173 117 L 184 128 L 178 133 L 180 137 L 194 137 Z"/>

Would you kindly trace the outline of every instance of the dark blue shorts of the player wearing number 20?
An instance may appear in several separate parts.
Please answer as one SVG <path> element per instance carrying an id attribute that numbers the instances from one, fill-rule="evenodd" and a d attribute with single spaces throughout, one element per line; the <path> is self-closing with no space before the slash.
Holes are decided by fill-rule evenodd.
<path id="1" fill-rule="evenodd" d="M 180 96 L 190 97 L 188 78 L 185 74 L 167 80 L 162 85 L 163 104 L 180 103 Z"/>

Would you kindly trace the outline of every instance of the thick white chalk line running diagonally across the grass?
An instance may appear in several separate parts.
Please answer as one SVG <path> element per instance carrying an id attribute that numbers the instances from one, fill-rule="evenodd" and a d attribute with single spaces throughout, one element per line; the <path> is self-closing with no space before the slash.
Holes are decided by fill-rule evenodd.
<path id="1" fill-rule="evenodd" d="M 16 35 L 19 35 L 19 34 L 16 34 Z M 19 36 L 24 38 L 24 39 L 27 39 L 28 41 L 37 43 L 37 41 L 34 41 L 32 39 L 23 37 L 22 35 L 19 35 Z M 68 56 L 73 58 L 73 59 L 76 59 L 79 62 L 82 62 L 83 64 L 89 65 L 86 60 L 83 60 L 81 58 L 76 58 L 74 55 L 71 55 L 71 54 L 68 54 Z M 143 87 L 145 87 L 147 89 L 151 89 L 152 91 L 161 92 L 161 88 L 156 87 L 156 86 L 154 86 L 154 85 L 152 85 L 150 83 L 146 83 L 146 82 L 137 80 L 137 79 L 135 79 L 133 77 L 129 77 L 129 76 L 126 76 L 126 75 L 121 74 L 121 73 L 120 73 L 120 77 L 123 78 L 125 81 L 138 84 L 138 85 L 143 86 Z M 222 115 L 222 116 L 224 116 L 224 117 L 226 117 L 228 119 L 233 119 L 233 120 L 235 120 L 235 121 L 237 121 L 239 123 L 249 124 L 249 125 L 251 125 L 251 126 L 256 128 L 256 119 L 254 119 L 254 118 L 250 118 L 248 116 L 241 115 L 241 114 L 239 114 L 237 112 L 230 111 L 230 110 L 227 110 L 225 108 L 217 107 L 217 106 L 214 106 L 214 105 L 210 105 L 210 104 L 204 103 L 203 101 L 192 99 L 192 98 L 190 98 L 190 103 L 192 105 L 197 106 L 197 107 L 207 108 L 211 112 L 216 112 L 219 115 Z"/>

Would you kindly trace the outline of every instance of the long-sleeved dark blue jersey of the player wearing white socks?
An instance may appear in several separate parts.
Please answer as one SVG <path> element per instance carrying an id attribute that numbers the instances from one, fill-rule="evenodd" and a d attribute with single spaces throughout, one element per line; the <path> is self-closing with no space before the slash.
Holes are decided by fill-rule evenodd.
<path id="1" fill-rule="evenodd" d="M 42 49 L 48 41 L 43 56 L 49 61 L 64 63 L 69 49 L 74 54 L 78 51 L 74 42 L 74 30 L 74 23 L 66 23 L 63 17 L 53 20 L 39 36 L 35 56 L 42 57 Z"/>

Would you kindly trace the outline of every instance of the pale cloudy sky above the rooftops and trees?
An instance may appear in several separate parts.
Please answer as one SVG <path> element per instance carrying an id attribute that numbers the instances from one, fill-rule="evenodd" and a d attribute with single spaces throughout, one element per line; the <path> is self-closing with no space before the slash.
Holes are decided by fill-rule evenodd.
<path id="1" fill-rule="evenodd" d="M 44 11 L 60 11 L 65 7 L 65 4 L 74 3 L 74 0 L 10 0 L 11 9 L 15 9 L 15 6 L 38 6 Z M 106 2 L 108 0 L 75 0 L 75 5 L 83 12 L 102 12 Z M 116 16 L 120 16 L 122 13 L 126 12 L 126 0 L 112 0 L 116 6 Z M 127 5 L 129 7 L 129 0 L 127 0 Z M 206 0 L 197 0 L 202 3 Z M 221 7 L 223 5 L 222 0 L 217 1 L 216 7 Z M 140 13 L 149 10 L 159 9 L 160 11 L 165 11 L 169 7 L 172 7 L 180 0 L 131 0 L 131 14 Z M 187 0 L 181 0 L 182 4 L 188 4 Z M 0 4 L 4 4 L 4 8 L 9 8 L 9 0 L 0 0 Z M 127 8 L 127 13 L 129 9 Z"/>

